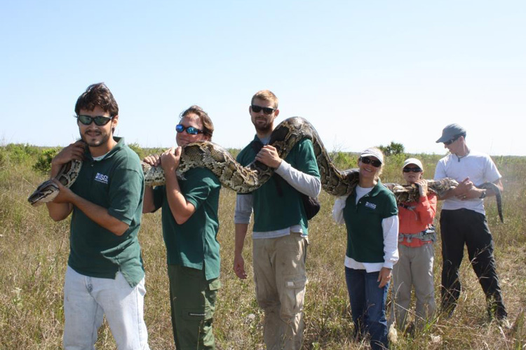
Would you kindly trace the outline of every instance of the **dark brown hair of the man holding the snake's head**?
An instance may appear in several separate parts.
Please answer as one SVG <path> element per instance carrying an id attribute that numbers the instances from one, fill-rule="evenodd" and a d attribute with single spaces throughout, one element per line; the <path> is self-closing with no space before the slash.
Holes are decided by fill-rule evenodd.
<path id="1" fill-rule="evenodd" d="M 81 113 L 81 109 L 93 111 L 96 106 L 99 106 L 104 112 L 108 112 L 111 117 L 119 114 L 119 106 L 112 92 L 109 91 L 104 83 L 96 83 L 88 86 L 86 91 L 76 100 L 75 113 L 78 116 L 79 113 Z"/>

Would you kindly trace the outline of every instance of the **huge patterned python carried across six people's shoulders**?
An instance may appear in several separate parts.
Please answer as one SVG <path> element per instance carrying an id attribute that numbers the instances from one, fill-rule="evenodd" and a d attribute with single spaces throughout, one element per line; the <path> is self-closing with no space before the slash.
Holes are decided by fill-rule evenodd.
<path id="1" fill-rule="evenodd" d="M 348 195 L 351 193 L 353 188 L 358 184 L 358 169 L 344 171 L 337 169 L 323 146 L 318 132 L 316 132 L 311 123 L 304 118 L 292 117 L 283 120 L 272 132 L 269 144 L 276 148 L 280 158 L 285 159 L 297 142 L 302 139 L 309 139 L 313 144 L 323 190 L 335 196 Z M 184 173 L 194 167 L 210 169 L 221 181 L 223 186 L 237 193 L 250 193 L 257 190 L 257 188 L 267 182 L 272 174 L 274 174 L 274 169 L 260 162 L 252 162 L 247 167 L 242 167 L 228 151 L 208 141 L 187 144 L 182 147 L 177 176 L 184 179 Z M 76 179 L 76 174 L 78 174 L 80 166 L 66 165 L 65 168 L 67 169 L 64 169 L 64 171 L 61 170 L 57 178 L 63 185 L 69 187 L 72 181 Z M 159 186 L 164 183 L 164 173 L 161 167 L 151 167 L 142 162 L 142 169 L 144 172 L 144 181 L 147 186 Z M 76 174 L 70 174 L 72 172 L 76 172 Z M 439 181 L 428 180 L 429 190 L 439 196 L 457 185 L 457 181 L 452 179 L 442 179 Z M 392 190 L 397 202 L 410 202 L 418 198 L 418 189 L 416 186 L 397 185 L 392 188 Z M 50 202 L 56 197 L 57 194 L 55 192 L 57 191 L 58 188 L 53 181 L 46 181 L 29 196 L 28 200 L 34 206 L 44 202 Z M 501 204 L 499 203 L 500 193 L 498 192 L 497 204 L 499 215 L 501 216 Z"/>

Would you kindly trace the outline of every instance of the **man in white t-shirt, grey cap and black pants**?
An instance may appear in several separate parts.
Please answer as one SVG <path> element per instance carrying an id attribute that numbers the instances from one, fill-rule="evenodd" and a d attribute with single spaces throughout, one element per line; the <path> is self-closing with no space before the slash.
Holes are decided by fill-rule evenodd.
<path id="1" fill-rule="evenodd" d="M 440 212 L 442 309 L 452 314 L 457 305 L 461 290 L 459 267 L 466 244 L 469 260 L 486 295 L 489 316 L 508 326 L 483 201 L 495 192 L 476 187 L 491 182 L 502 191 L 501 174 L 489 155 L 468 148 L 466 130 L 458 124 L 447 125 L 436 142 L 442 142 L 450 154 L 438 161 L 435 179 L 448 177 L 459 182 L 457 188 L 439 198 L 444 200 Z"/>

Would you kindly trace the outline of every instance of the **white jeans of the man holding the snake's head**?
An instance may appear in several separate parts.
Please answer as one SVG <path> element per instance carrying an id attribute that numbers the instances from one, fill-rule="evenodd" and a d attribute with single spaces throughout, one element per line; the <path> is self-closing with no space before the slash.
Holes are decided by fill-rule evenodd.
<path id="1" fill-rule="evenodd" d="M 134 288 L 121 272 L 115 279 L 84 276 L 67 267 L 64 283 L 64 348 L 94 350 L 106 315 L 119 350 L 149 350 L 143 318 L 144 279 Z"/>

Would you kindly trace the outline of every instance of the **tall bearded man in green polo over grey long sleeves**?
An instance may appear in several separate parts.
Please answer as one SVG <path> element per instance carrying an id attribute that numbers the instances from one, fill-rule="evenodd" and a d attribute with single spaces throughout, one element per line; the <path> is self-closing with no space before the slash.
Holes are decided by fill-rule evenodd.
<path id="1" fill-rule="evenodd" d="M 243 244 L 253 209 L 252 260 L 257 302 L 265 312 L 264 342 L 269 350 L 299 349 L 309 244 L 301 194 L 318 197 L 320 174 L 309 139 L 299 141 L 285 160 L 279 158 L 276 148 L 267 145 L 279 114 L 274 93 L 257 92 L 248 111 L 256 136 L 237 160 L 243 166 L 258 160 L 276 169 L 276 173 L 253 193 L 237 196 L 234 272 L 240 279 L 247 277 Z"/>

